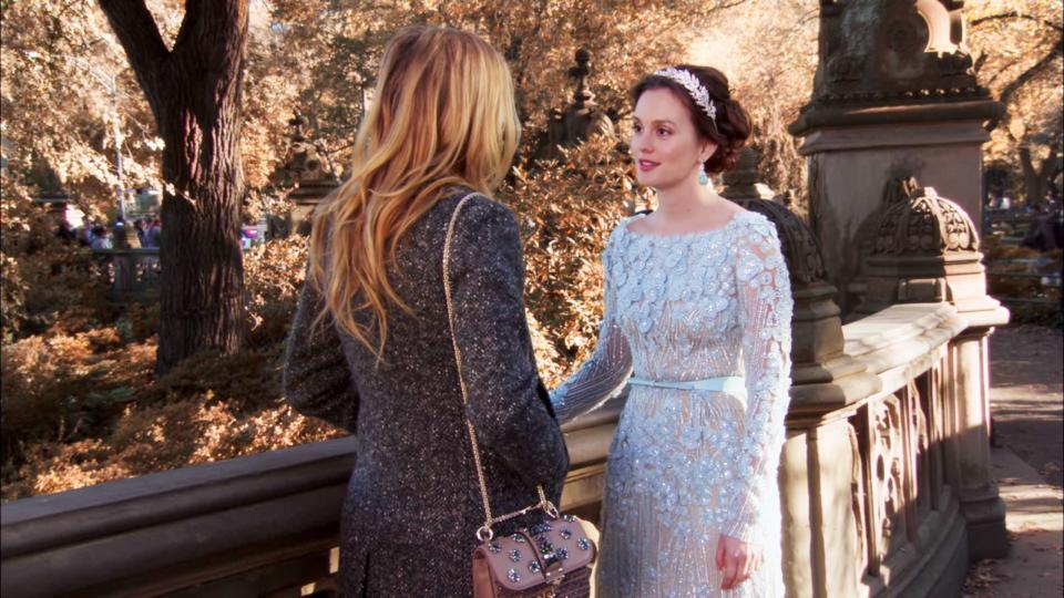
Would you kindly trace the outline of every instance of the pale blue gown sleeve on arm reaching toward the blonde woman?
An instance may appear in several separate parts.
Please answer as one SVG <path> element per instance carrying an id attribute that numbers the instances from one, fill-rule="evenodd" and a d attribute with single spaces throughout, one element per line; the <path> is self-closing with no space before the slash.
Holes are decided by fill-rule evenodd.
<path id="1" fill-rule="evenodd" d="M 618 228 L 621 226 L 626 226 L 626 221 L 622 221 Z M 615 250 L 613 238 L 616 234 L 602 254 L 605 305 L 595 350 L 573 375 L 551 393 L 551 403 L 561 423 L 593 411 L 616 396 L 632 374 L 632 351 L 616 321 L 616 289 L 611 282 L 615 259 L 612 256 Z"/>

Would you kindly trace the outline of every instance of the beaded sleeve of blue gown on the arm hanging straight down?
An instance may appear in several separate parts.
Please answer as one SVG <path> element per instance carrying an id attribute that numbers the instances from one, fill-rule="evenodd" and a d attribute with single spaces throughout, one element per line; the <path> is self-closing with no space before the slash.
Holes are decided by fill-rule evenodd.
<path id="1" fill-rule="evenodd" d="M 736 244 L 746 417 L 736 458 L 734 508 L 722 532 L 755 542 L 766 488 L 777 483 L 784 419 L 790 402 L 794 301 L 775 226 L 757 218 Z"/>

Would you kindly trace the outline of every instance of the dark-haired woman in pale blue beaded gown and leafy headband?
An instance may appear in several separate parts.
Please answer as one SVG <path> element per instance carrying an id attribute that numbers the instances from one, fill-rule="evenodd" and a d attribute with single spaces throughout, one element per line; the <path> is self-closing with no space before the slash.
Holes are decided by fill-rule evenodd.
<path id="1" fill-rule="evenodd" d="M 552 395 L 565 421 L 631 385 L 598 596 L 780 597 L 790 279 L 776 227 L 708 176 L 735 165 L 750 121 L 707 66 L 648 74 L 632 99 L 632 154 L 658 208 L 613 231 L 598 343 Z"/>

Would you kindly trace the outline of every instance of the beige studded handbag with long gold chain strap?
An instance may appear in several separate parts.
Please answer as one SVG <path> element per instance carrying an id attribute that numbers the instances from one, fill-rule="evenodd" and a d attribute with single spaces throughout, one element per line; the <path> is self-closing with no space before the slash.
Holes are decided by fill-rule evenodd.
<path id="1" fill-rule="evenodd" d="M 443 292 L 447 297 L 447 317 L 458 364 L 458 380 L 462 390 L 462 403 L 469 404 L 466 381 L 462 377 L 462 354 L 454 336 L 454 308 L 451 302 L 449 265 L 451 238 L 462 206 L 475 193 L 463 197 L 447 227 L 443 241 Z M 559 516 L 557 508 L 548 499 L 543 486 L 536 486 L 540 502 L 507 515 L 492 516 L 488 499 L 488 484 L 480 461 L 480 446 L 472 422 L 466 417 L 469 442 L 473 450 L 480 497 L 484 506 L 484 525 L 477 529 L 480 546 L 473 550 L 473 596 L 475 598 L 587 598 L 591 595 L 591 569 L 596 547 L 584 532 L 583 522 L 572 515 Z M 546 513 L 549 520 L 505 537 L 495 537 L 494 524 L 525 515 L 535 509 Z"/>

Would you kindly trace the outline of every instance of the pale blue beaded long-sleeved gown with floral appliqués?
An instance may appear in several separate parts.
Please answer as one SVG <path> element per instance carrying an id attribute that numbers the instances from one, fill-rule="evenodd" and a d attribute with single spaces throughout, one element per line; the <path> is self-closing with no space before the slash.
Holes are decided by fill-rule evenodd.
<path id="1" fill-rule="evenodd" d="M 552 393 L 559 417 L 594 409 L 633 371 L 666 383 L 744 377 L 745 392 L 631 386 L 607 463 L 598 596 L 782 596 L 777 468 L 792 300 L 776 228 L 739 212 L 704 233 L 630 230 L 642 217 L 623 220 L 603 252 L 598 341 Z M 715 565 L 720 533 L 764 557 L 729 591 Z"/>

